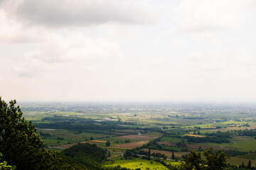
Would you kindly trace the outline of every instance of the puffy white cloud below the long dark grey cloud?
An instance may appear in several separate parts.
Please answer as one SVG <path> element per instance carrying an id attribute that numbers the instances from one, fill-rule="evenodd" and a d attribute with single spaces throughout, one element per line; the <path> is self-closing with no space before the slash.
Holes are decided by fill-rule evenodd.
<path id="1" fill-rule="evenodd" d="M 14 66 L 20 76 L 35 77 L 40 72 L 61 72 L 67 65 L 95 71 L 98 62 L 121 57 L 119 44 L 104 39 L 91 39 L 82 33 L 71 33 L 66 38 L 55 35 L 38 45 L 37 50 L 24 54 L 25 62 Z M 63 67 L 63 68 L 62 68 Z M 60 69 L 60 70 L 58 70 Z"/>

